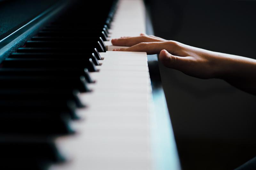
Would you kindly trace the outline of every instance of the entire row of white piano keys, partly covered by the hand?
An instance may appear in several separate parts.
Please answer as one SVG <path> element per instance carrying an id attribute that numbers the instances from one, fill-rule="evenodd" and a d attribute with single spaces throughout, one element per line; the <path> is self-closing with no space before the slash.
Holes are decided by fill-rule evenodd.
<path id="1" fill-rule="evenodd" d="M 140 0 L 119 1 L 110 38 L 144 32 L 145 26 L 131 31 L 136 27 L 132 26 L 132 20 L 144 22 L 141 22 L 142 3 Z M 127 12 L 140 13 L 140 17 L 136 20 Z M 121 18 L 131 25 L 124 29 Z M 92 92 L 80 94 L 80 100 L 87 107 L 77 111 L 82 118 L 72 124 L 77 133 L 56 139 L 59 150 L 70 159 L 50 169 L 151 169 L 148 101 L 152 92 L 147 54 L 107 51 L 100 55 L 103 58 L 97 66 L 100 71 L 90 73 L 96 80 L 88 84 Z"/>

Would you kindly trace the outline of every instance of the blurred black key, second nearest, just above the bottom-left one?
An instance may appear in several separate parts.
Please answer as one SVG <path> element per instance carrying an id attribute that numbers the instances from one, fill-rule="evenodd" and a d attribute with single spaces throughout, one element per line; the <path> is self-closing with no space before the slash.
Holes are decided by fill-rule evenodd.
<path id="1" fill-rule="evenodd" d="M 53 113 L 52 113 L 53 114 Z M 74 130 L 63 115 L 59 118 L 47 114 L 1 113 L 0 134 L 52 136 L 73 134 Z M 10 118 L 9 115 L 13 115 Z"/>

